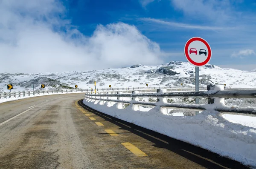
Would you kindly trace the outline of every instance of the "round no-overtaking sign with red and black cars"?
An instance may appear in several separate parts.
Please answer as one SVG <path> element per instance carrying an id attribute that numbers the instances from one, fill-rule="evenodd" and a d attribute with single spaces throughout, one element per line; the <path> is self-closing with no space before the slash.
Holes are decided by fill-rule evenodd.
<path id="1" fill-rule="evenodd" d="M 193 66 L 204 66 L 209 63 L 212 57 L 212 50 L 207 43 L 201 37 L 192 37 L 186 42 L 184 53 L 186 59 Z"/>

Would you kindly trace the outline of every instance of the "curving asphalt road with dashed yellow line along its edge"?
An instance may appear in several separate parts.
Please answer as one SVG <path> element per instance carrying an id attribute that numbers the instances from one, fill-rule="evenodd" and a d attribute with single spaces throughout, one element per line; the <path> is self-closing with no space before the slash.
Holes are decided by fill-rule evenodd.
<path id="1" fill-rule="evenodd" d="M 240 163 L 91 110 L 84 94 L 0 104 L 0 169 L 245 169 Z"/>

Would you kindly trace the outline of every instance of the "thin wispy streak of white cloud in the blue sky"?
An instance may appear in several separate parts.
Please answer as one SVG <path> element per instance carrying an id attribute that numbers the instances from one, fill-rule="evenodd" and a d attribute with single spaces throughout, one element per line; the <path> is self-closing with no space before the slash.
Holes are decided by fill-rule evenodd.
<path id="1" fill-rule="evenodd" d="M 160 19 L 154 18 L 140 18 L 140 20 L 151 22 L 151 23 L 158 23 L 161 25 L 172 26 L 172 27 L 179 27 L 184 29 L 199 29 L 199 30 L 223 30 L 223 29 L 233 29 L 228 27 L 218 27 L 218 26 L 199 26 L 199 25 L 190 25 L 186 23 L 178 23 L 178 22 L 169 22 Z"/>

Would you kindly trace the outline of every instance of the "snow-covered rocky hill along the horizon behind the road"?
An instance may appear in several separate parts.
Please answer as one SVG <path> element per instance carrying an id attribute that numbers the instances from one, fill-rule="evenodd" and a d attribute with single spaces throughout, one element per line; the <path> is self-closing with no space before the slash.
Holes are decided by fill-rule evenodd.
<path id="1" fill-rule="evenodd" d="M 159 66 L 133 65 L 119 69 L 104 69 L 75 72 L 46 72 L 37 74 L 1 73 L 0 92 L 7 92 L 7 84 L 13 84 L 14 91 L 40 89 L 69 89 L 78 85 L 79 88 L 146 87 L 148 86 L 194 86 L 195 67 L 187 62 L 171 61 Z M 200 85 L 224 84 L 232 87 L 256 87 L 256 72 L 245 72 L 237 69 L 221 69 L 218 66 L 200 67 Z"/>

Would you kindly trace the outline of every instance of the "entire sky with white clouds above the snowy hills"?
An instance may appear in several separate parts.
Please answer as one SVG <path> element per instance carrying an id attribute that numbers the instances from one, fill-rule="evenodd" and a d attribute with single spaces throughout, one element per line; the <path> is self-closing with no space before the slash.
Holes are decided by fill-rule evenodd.
<path id="1" fill-rule="evenodd" d="M 187 61 L 256 69 L 256 0 L 0 0 L 0 73 L 66 72 Z"/>

